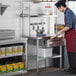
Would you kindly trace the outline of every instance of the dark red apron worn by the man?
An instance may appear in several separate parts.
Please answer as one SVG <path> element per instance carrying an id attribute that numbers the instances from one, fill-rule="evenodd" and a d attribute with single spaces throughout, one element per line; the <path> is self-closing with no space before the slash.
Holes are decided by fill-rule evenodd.
<path id="1" fill-rule="evenodd" d="M 68 52 L 76 52 L 76 30 L 70 29 L 65 32 L 66 48 Z"/>

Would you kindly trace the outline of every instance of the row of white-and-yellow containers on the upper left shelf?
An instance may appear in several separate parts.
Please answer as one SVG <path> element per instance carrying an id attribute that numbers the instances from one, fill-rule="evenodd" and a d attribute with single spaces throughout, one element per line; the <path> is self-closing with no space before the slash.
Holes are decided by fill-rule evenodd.
<path id="1" fill-rule="evenodd" d="M 1 57 L 18 55 L 18 54 L 23 54 L 23 53 L 24 53 L 23 45 L 0 47 L 0 56 Z"/>

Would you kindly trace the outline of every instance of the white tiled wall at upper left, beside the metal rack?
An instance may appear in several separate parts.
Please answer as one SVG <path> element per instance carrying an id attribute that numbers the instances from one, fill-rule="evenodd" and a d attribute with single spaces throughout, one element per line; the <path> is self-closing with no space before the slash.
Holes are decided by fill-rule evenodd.
<path id="1" fill-rule="evenodd" d="M 13 29 L 16 37 L 20 36 L 20 0 L 0 0 L 0 3 L 9 5 L 3 15 L 0 15 L 0 29 Z"/>

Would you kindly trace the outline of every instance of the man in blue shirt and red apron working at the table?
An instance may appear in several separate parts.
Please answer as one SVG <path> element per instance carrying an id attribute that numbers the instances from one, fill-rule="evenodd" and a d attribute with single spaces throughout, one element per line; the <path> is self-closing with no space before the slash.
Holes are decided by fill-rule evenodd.
<path id="1" fill-rule="evenodd" d="M 61 33 L 65 33 L 66 48 L 69 60 L 68 72 L 76 73 L 76 16 L 72 10 L 70 10 L 65 2 L 58 1 L 55 6 L 59 11 L 64 13 L 65 27 L 56 33 L 59 36 Z"/>

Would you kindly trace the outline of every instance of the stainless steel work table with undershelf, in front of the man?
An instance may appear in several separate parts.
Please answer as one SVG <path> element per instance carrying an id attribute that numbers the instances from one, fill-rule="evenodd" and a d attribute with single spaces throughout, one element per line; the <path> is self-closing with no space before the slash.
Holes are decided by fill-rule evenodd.
<path id="1" fill-rule="evenodd" d="M 47 47 L 47 46 L 39 46 L 39 40 L 42 39 L 42 37 L 37 37 L 37 36 L 25 36 L 25 38 L 28 38 L 28 39 L 35 39 L 36 40 L 36 68 L 37 68 L 37 72 L 39 71 L 39 61 L 40 60 L 46 60 L 47 58 L 60 58 L 60 68 L 62 68 L 62 45 L 55 45 L 55 46 L 59 46 L 60 47 L 60 54 L 59 55 L 53 55 L 53 56 L 50 56 L 50 57 L 39 57 L 38 56 L 38 49 L 39 48 L 52 48 L 55 47 L 55 46 L 50 46 L 50 47 Z M 42 39 L 42 40 L 45 40 L 45 39 Z M 46 65 L 46 64 L 45 64 Z"/>

